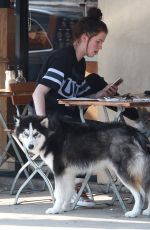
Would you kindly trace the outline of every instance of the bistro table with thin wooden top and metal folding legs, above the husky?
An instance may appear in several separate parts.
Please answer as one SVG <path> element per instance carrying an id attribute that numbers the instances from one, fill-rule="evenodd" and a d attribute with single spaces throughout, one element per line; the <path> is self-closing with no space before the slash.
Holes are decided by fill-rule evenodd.
<path id="1" fill-rule="evenodd" d="M 70 98 L 70 99 L 59 99 L 59 104 L 63 104 L 65 106 L 78 106 L 80 111 L 80 118 L 81 121 L 84 123 L 84 106 L 102 106 L 104 108 L 106 119 L 109 120 L 107 111 L 105 110 L 107 106 L 112 106 L 117 108 L 117 113 L 114 118 L 114 121 L 120 121 L 120 117 L 122 116 L 122 112 L 125 110 L 125 108 L 137 108 L 140 112 L 140 109 L 143 107 L 150 107 L 150 97 L 145 97 L 144 95 L 137 95 L 134 96 L 131 99 L 126 99 L 124 97 L 114 97 L 114 98 L 103 98 L 103 99 L 90 99 L 90 98 Z M 118 198 L 119 203 L 122 207 L 122 209 L 126 212 L 125 204 L 120 196 L 119 190 L 117 189 L 113 177 L 111 176 L 111 173 L 108 169 L 106 169 L 106 173 L 108 175 L 108 178 L 110 180 L 110 183 L 112 185 L 113 191 L 115 196 Z M 89 179 L 91 177 L 91 174 L 87 173 L 84 181 L 82 183 L 81 189 L 78 192 L 78 196 L 72 206 L 72 208 L 75 208 L 85 186 L 87 185 Z M 112 199 L 112 202 L 116 198 L 114 197 Z"/>

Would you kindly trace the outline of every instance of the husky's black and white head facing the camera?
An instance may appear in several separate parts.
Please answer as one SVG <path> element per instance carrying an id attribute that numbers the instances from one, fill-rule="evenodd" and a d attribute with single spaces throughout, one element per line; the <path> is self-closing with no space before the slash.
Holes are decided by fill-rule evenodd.
<path id="1" fill-rule="evenodd" d="M 41 150 L 47 138 L 48 123 L 47 117 L 16 117 L 16 136 L 28 151 L 36 154 Z"/>

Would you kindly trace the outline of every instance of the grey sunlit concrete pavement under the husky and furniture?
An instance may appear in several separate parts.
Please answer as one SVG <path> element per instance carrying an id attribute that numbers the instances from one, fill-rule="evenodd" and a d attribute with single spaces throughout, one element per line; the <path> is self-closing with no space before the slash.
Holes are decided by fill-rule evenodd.
<path id="1" fill-rule="evenodd" d="M 52 206 L 48 191 L 33 192 L 28 188 L 19 198 L 21 203 L 14 205 L 15 196 L 9 194 L 12 180 L 0 177 L 0 230 L 150 229 L 149 217 L 125 218 L 118 202 L 113 206 L 105 204 L 104 201 L 111 199 L 111 194 L 104 194 L 104 187 L 96 182 L 90 183 L 96 207 L 80 207 L 62 214 L 46 215 L 45 210 Z M 35 179 L 36 183 L 39 186 L 39 179 Z M 122 194 L 127 204 L 129 194 Z M 130 209 L 132 205 L 127 204 L 127 207 Z"/>

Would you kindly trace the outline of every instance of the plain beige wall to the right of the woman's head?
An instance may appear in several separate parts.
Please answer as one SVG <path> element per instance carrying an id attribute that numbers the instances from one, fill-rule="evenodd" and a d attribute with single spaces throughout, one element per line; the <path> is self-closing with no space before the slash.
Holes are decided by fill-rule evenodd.
<path id="1" fill-rule="evenodd" d="M 99 0 L 109 33 L 99 53 L 99 74 L 124 78 L 121 93 L 150 90 L 150 0 Z"/>

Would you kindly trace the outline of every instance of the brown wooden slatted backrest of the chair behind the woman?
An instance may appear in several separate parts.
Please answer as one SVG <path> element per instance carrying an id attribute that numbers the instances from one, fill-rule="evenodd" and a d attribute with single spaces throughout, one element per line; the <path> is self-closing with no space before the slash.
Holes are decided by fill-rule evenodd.
<path id="1" fill-rule="evenodd" d="M 29 104 L 32 100 L 32 94 L 35 90 L 35 82 L 10 84 L 11 99 L 15 106 Z"/>

